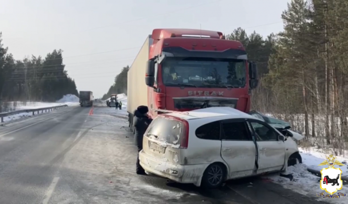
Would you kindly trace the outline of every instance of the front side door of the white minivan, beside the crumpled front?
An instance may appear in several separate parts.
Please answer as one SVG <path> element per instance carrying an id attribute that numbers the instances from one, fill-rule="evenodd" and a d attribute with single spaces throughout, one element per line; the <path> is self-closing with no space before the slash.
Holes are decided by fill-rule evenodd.
<path id="1" fill-rule="evenodd" d="M 271 126 L 260 120 L 249 119 L 258 148 L 258 174 L 277 171 L 285 164 L 285 143 Z"/>

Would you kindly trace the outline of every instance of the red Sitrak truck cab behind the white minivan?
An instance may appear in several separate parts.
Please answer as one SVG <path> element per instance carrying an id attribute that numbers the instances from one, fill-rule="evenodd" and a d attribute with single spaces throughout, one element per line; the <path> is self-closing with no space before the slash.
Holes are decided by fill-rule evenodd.
<path id="1" fill-rule="evenodd" d="M 240 42 L 194 29 L 155 29 L 151 38 L 145 74 L 150 116 L 157 115 L 153 109 L 212 106 L 250 111 L 257 65 L 248 61 Z"/>

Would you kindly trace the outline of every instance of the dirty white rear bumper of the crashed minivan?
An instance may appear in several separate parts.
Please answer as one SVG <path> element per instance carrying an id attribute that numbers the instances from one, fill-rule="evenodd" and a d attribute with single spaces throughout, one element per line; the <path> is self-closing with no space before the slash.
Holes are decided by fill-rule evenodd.
<path id="1" fill-rule="evenodd" d="M 201 177 L 209 164 L 181 165 L 172 164 L 141 151 L 140 165 L 148 172 L 168 178 L 178 183 L 192 183 L 200 186 Z"/>

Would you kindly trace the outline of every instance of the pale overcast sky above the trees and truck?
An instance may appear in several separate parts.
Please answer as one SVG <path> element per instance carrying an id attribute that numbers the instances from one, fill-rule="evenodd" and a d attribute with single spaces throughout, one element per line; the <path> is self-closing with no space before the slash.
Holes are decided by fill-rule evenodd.
<path id="1" fill-rule="evenodd" d="M 266 37 L 282 30 L 280 15 L 289 1 L 1 0 L 0 32 L 16 59 L 62 49 L 78 90 L 99 98 L 154 28 L 201 25 L 227 34 L 242 27 Z"/>

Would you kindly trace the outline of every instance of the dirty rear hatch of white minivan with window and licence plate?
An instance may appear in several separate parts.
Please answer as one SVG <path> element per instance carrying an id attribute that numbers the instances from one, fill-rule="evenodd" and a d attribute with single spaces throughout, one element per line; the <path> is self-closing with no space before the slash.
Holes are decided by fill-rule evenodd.
<path id="1" fill-rule="evenodd" d="M 162 114 L 156 117 L 145 132 L 143 152 L 156 160 L 182 164 L 181 150 L 187 148 L 188 123 Z"/>

